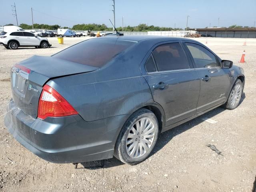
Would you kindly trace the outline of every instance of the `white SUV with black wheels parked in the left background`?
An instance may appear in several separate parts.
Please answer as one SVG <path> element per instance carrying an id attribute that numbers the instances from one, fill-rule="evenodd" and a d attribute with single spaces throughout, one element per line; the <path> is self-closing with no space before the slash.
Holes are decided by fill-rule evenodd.
<path id="1" fill-rule="evenodd" d="M 25 31 L 2 32 L 0 44 L 10 49 L 17 49 L 18 47 L 48 48 L 52 46 L 47 38 L 38 37 Z"/>

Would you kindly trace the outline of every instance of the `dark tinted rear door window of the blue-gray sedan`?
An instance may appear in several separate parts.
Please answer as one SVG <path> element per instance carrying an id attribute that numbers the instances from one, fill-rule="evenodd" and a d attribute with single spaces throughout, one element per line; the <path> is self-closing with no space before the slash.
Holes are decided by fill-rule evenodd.
<path id="1" fill-rule="evenodd" d="M 186 55 L 179 43 L 160 45 L 152 53 L 159 71 L 190 68 Z"/>

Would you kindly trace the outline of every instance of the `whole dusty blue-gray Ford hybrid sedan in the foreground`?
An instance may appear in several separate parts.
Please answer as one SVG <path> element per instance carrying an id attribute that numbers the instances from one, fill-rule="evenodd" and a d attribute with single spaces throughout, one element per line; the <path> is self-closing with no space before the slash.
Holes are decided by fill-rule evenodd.
<path id="1" fill-rule="evenodd" d="M 5 124 L 55 163 L 145 160 L 158 135 L 240 102 L 244 71 L 185 38 L 106 36 L 11 69 Z"/>

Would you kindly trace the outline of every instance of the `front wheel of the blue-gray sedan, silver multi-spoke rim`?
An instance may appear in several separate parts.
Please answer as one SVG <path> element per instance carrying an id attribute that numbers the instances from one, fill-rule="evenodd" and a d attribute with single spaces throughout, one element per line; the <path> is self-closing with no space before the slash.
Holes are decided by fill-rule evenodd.
<path id="1" fill-rule="evenodd" d="M 237 79 L 230 91 L 227 102 L 224 104 L 224 108 L 232 110 L 235 109 L 243 95 L 243 83 L 240 79 Z"/>

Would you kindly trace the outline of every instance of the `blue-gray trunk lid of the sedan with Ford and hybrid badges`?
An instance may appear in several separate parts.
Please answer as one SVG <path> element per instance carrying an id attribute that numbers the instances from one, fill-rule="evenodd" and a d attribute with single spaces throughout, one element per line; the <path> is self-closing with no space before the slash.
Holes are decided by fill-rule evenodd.
<path id="1" fill-rule="evenodd" d="M 12 99 L 18 108 L 37 117 L 42 87 L 52 78 L 92 72 L 99 68 L 48 56 L 33 56 L 12 67 Z"/>

